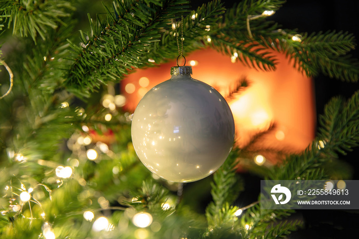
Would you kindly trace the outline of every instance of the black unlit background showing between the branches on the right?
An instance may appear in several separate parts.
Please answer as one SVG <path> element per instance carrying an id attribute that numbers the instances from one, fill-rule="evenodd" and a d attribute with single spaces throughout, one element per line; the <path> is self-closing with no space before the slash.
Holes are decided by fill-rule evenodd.
<path id="1" fill-rule="evenodd" d="M 205 1 L 192 1 L 192 9 L 196 9 Z M 234 1 L 225 2 L 226 8 L 233 6 Z M 239 1 L 237 1 L 239 2 Z M 327 30 L 348 31 L 353 33 L 356 43 L 359 40 L 359 1 L 357 0 L 331 0 L 331 1 L 291 1 L 268 17 L 283 29 L 297 29 L 298 33 L 312 33 Z M 351 52 L 359 58 L 359 50 Z M 338 79 L 329 78 L 320 74 L 313 79 L 315 88 L 315 107 L 318 115 L 323 113 L 324 106 L 333 96 L 342 95 L 349 98 L 356 90 L 358 83 L 346 83 Z M 341 160 L 348 163 L 352 169 L 352 177 L 347 180 L 359 180 L 358 164 L 359 148 L 355 148 Z M 236 201 L 238 206 L 248 205 L 257 200 L 260 180 L 249 173 L 241 173 L 245 185 L 258 185 L 258 188 L 246 187 Z M 350 175 L 348 173 L 348 175 Z M 187 189 L 186 189 L 187 190 Z M 358 189 L 359 190 L 359 189 Z M 210 198 L 209 198 L 210 200 Z M 297 210 L 289 220 L 303 220 L 305 227 L 293 232 L 288 238 L 359 238 L 359 210 Z"/>

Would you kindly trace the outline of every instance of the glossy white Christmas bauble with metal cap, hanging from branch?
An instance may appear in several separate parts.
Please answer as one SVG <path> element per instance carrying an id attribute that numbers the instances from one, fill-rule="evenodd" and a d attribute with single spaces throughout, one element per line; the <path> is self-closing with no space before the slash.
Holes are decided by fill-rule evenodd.
<path id="1" fill-rule="evenodd" d="M 193 182 L 212 174 L 234 141 L 227 102 L 191 73 L 190 66 L 172 67 L 171 78 L 146 93 L 132 118 L 132 143 L 139 159 L 172 182 Z"/>

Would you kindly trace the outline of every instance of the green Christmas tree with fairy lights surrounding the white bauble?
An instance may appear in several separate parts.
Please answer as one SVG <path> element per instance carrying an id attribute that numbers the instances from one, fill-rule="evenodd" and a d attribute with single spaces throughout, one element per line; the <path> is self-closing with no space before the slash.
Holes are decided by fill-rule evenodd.
<path id="1" fill-rule="evenodd" d="M 311 4 L 309 12 L 317 6 Z M 311 238 L 301 234 L 317 227 L 308 212 L 261 210 L 259 181 L 357 179 L 355 165 L 341 158 L 359 142 L 359 64 L 350 55 L 353 34 L 284 29 L 273 21 L 283 5 L 1 0 L 1 237 Z M 131 143 L 133 112 L 121 108 L 119 84 L 137 68 L 176 59 L 178 38 L 185 55 L 213 48 L 258 71 L 275 71 L 271 52 L 280 52 L 314 77 L 317 88 L 325 78 L 334 90 L 344 82 L 351 95 L 326 98 L 325 106 L 319 100 L 313 142 L 297 153 L 272 150 L 276 165 L 250 158 L 270 150 L 255 143 L 274 122 L 245 147 L 233 147 L 213 175 L 169 182 L 139 161 Z M 247 84 L 231 86 L 227 98 Z M 334 215 L 354 223 L 353 213 Z M 330 223 L 328 237 L 354 229 L 333 230 L 337 224 Z"/>

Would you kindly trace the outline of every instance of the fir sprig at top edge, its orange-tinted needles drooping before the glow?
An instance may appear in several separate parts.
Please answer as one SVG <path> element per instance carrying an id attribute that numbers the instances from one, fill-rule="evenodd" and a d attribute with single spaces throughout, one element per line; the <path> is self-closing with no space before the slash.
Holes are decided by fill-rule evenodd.
<path id="1" fill-rule="evenodd" d="M 242 1 L 228 9 L 223 23 L 210 32 L 213 46 L 225 54 L 238 54 L 238 61 L 261 70 L 274 70 L 275 58 L 269 54 L 261 42 L 255 42 L 247 35 L 247 16 L 261 15 L 266 10 L 277 10 L 284 1 Z M 272 31 L 276 25 L 258 18 L 251 22 L 251 31 L 261 34 Z"/>

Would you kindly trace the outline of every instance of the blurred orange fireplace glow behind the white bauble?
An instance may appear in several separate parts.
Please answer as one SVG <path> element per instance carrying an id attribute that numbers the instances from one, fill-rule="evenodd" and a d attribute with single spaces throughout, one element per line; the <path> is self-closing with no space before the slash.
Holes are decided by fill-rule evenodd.
<path id="1" fill-rule="evenodd" d="M 239 146 L 246 145 L 252 135 L 274 123 L 275 129 L 266 135 L 261 147 L 300 151 L 314 137 L 312 79 L 298 72 L 285 55 L 273 54 L 278 59 L 275 71 L 246 67 L 238 61 L 238 53 L 233 54 L 235 61 L 232 63 L 230 56 L 212 49 L 197 50 L 186 59 L 188 64 L 196 63 L 192 66 L 192 77 L 211 85 L 223 96 L 228 94 L 230 86 L 244 77 L 247 79 L 248 87 L 228 100 Z M 121 86 L 126 97 L 124 109 L 133 112 L 145 89 L 147 92 L 170 78 L 172 66 L 176 66 L 175 60 L 158 67 L 139 69 L 125 78 Z M 142 77 L 149 80 L 146 88 L 139 84 Z M 126 93 L 128 84 L 133 84 L 135 93 Z"/>

